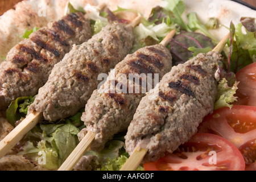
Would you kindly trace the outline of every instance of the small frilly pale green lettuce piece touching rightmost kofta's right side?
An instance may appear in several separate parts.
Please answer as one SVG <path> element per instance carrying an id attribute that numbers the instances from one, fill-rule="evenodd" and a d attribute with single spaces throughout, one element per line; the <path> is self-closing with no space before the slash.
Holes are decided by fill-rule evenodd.
<path id="1" fill-rule="evenodd" d="M 239 82 L 236 81 L 233 86 L 229 86 L 226 78 L 223 78 L 218 83 L 218 94 L 217 100 L 214 103 L 214 110 L 219 109 L 221 107 L 233 107 L 232 103 L 234 101 L 237 101 L 237 97 L 235 97 L 234 94 L 236 94 L 238 84 Z"/>

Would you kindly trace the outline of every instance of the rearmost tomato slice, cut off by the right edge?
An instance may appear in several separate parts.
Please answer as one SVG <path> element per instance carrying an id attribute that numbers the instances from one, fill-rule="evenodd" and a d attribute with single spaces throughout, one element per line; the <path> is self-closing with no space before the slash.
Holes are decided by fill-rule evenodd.
<path id="1" fill-rule="evenodd" d="M 237 101 L 234 105 L 256 106 L 256 63 L 249 64 L 236 74 L 238 84 Z"/>

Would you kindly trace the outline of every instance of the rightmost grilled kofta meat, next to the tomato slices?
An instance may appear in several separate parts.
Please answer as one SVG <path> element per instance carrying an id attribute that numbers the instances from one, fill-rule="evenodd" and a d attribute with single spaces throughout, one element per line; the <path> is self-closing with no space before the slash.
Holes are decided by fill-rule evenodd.
<path id="1" fill-rule="evenodd" d="M 156 89 L 142 98 L 125 136 L 130 155 L 139 146 L 147 149 L 143 162 L 155 161 L 196 133 L 205 115 L 213 111 L 218 60 L 220 53 L 200 53 L 172 67 Z"/>

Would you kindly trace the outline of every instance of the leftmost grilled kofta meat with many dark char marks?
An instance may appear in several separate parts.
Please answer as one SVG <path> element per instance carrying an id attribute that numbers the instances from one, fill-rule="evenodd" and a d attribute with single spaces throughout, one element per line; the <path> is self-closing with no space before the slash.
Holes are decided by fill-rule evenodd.
<path id="1" fill-rule="evenodd" d="M 0 65 L 0 110 L 7 109 L 18 97 L 35 96 L 73 44 L 84 43 L 90 37 L 89 19 L 82 13 L 72 13 L 12 48 Z"/>

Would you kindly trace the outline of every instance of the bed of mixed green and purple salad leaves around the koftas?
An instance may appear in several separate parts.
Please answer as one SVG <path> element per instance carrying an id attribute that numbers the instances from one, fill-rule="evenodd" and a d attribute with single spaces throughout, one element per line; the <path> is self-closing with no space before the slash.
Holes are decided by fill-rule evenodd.
<path id="1" fill-rule="evenodd" d="M 185 20 L 181 18 L 186 9 L 184 2 L 181 0 L 166 1 L 168 2 L 166 7 L 154 7 L 150 17 L 143 18 L 141 24 L 134 28 L 135 43 L 131 53 L 141 47 L 159 43 L 173 29 L 176 29 L 177 33 L 168 48 L 172 53 L 174 65 L 184 63 L 198 53 L 211 51 L 217 42 L 209 30 L 220 26 L 218 20 L 210 18 L 206 24 L 202 24 L 197 19 L 196 13 L 189 13 L 187 23 L 185 23 Z M 76 10 L 69 3 L 67 13 L 77 11 L 84 14 L 87 11 L 90 12 L 88 16 L 91 19 L 93 34 L 100 32 L 101 28 L 110 22 L 126 23 L 126 20 L 118 19 L 114 13 L 119 11 L 138 13 L 135 10 L 124 9 L 123 7 L 117 7 L 114 12 L 107 10 L 100 13 L 97 7 L 90 5 L 84 9 Z M 23 38 L 28 38 L 37 29 L 26 30 Z M 241 18 L 241 23 L 237 25 L 231 22 L 229 29 L 230 39 L 222 52 L 224 59 L 218 63 L 219 84 L 215 109 L 223 106 L 232 107 L 232 102 L 236 100 L 234 94 L 239 84 L 236 81 L 235 73 L 246 65 L 256 62 L 255 18 Z M 15 126 L 26 117 L 27 107 L 34 102 L 34 99 L 35 96 L 21 97 L 11 103 L 6 112 L 7 120 L 11 125 Z M 59 168 L 79 143 L 77 134 L 86 127 L 80 119 L 83 111 L 84 109 L 81 109 L 76 115 L 61 119 L 57 124 L 40 123 L 17 144 L 18 155 L 26 155 L 38 161 L 39 152 L 44 151 L 47 155 L 47 162 L 43 167 L 48 169 Z M 97 163 L 98 166 L 93 170 L 119 170 L 122 167 L 129 157 L 125 151 L 124 135 L 125 133 L 116 135 L 101 152 L 86 152 L 85 155 L 95 155 L 97 157 L 94 163 Z M 143 167 L 139 166 L 138 170 L 143 170 Z"/>

